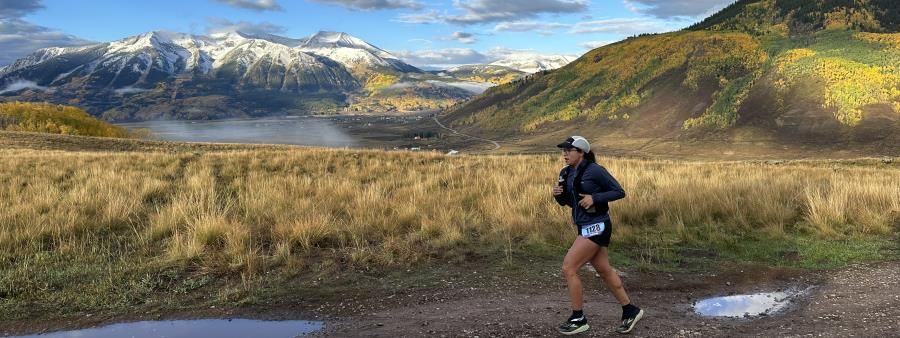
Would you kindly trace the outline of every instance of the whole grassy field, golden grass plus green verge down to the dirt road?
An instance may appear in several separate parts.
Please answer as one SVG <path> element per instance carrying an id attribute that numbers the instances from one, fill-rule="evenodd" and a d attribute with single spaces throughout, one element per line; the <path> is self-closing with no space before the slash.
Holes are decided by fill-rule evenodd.
<path id="1" fill-rule="evenodd" d="M 354 271 L 558 260 L 573 236 L 549 195 L 557 156 L 159 146 L 0 150 L 5 318 L 254 304 Z M 897 164 L 602 162 L 628 193 L 620 268 L 698 264 L 685 252 L 821 268 L 895 244 Z M 312 284 L 284 289 L 297 280 Z"/>

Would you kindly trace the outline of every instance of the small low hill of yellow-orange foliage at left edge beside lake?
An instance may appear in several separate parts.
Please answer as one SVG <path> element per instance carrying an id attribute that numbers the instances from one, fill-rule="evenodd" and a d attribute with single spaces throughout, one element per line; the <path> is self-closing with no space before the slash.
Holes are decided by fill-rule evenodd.
<path id="1" fill-rule="evenodd" d="M 0 129 L 81 136 L 129 136 L 127 130 L 98 120 L 81 109 L 47 103 L 0 103 Z"/>

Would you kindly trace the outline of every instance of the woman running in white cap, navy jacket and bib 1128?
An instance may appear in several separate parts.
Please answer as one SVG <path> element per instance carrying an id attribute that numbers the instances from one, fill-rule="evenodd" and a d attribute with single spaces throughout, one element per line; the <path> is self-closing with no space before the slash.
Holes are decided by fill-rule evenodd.
<path id="1" fill-rule="evenodd" d="M 625 191 L 606 168 L 597 164 L 591 145 L 584 137 L 572 136 L 557 147 L 562 148 L 566 167 L 559 173 L 553 197 L 560 205 L 572 207 L 578 232 L 562 267 L 569 286 L 572 316 L 560 325 L 559 332 L 572 335 L 590 328 L 582 308 L 584 290 L 578 278 L 578 270 L 590 262 L 622 304 L 622 324 L 616 332 L 629 333 L 643 317 L 644 310 L 631 304 L 622 280 L 609 265 L 609 237 L 612 234 L 609 202 L 624 198 Z"/>

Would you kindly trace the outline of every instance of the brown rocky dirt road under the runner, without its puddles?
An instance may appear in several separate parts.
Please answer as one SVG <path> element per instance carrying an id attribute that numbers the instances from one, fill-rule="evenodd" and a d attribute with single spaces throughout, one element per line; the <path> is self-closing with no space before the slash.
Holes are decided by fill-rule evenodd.
<path id="1" fill-rule="evenodd" d="M 284 299 L 246 308 L 152 314 L 135 309 L 64 321 L 0 319 L 0 336 L 195 318 L 320 320 L 325 328 L 313 335 L 333 337 L 561 336 L 555 328 L 569 315 L 565 282 L 551 264 L 536 264 L 534 270 L 511 278 L 472 269 L 449 274 L 437 286 L 409 285 L 392 292 L 376 288 L 370 294 Z M 705 273 L 624 271 L 623 276 L 633 301 L 646 311 L 630 335 L 634 337 L 900 337 L 900 262 L 826 272 L 744 266 Z M 621 336 L 614 332 L 619 305 L 593 273 L 583 271 L 582 278 L 591 329 L 578 336 Z M 786 310 L 770 316 L 708 318 L 692 308 L 708 297 L 805 288 L 808 292 Z M 261 332 L 259 337 L 264 336 Z"/>

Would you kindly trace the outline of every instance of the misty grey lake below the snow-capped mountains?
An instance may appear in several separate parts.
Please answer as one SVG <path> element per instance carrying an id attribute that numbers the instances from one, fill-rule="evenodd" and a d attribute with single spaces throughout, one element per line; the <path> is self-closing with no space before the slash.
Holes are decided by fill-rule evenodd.
<path id="1" fill-rule="evenodd" d="M 145 121 L 121 123 L 126 128 L 148 128 L 153 136 L 169 141 L 295 144 L 354 147 L 357 140 L 328 119 L 269 117 L 214 121 Z"/>

